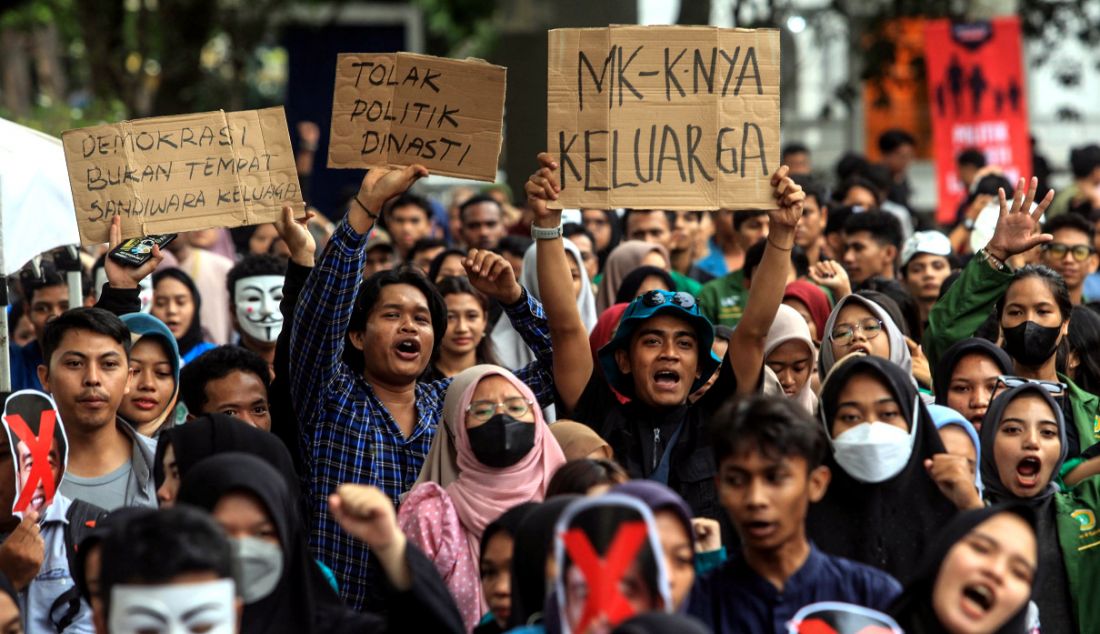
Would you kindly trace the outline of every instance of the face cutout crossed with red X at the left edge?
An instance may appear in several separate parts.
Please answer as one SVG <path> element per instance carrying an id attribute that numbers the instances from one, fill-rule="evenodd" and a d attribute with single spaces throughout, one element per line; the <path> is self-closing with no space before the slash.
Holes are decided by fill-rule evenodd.
<path id="1" fill-rule="evenodd" d="M 68 438 L 57 405 L 35 390 L 15 392 L 4 402 L 3 427 L 15 470 L 11 510 L 44 513 L 68 463 Z"/>

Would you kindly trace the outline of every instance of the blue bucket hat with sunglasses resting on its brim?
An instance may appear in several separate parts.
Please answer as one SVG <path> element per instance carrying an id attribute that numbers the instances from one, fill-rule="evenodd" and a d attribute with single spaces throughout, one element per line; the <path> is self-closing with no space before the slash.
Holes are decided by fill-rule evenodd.
<path id="1" fill-rule="evenodd" d="M 619 320 L 618 329 L 615 331 L 615 337 L 600 349 L 600 367 L 604 370 L 604 376 L 607 378 L 607 383 L 620 394 L 632 395 L 634 381 L 628 374 L 619 371 L 618 363 L 615 362 L 615 351 L 629 348 L 630 339 L 641 323 L 657 315 L 670 315 L 682 319 L 695 330 L 695 340 L 698 342 L 700 350 L 700 375 L 692 383 L 692 392 L 702 387 L 722 363 L 711 350 L 714 343 L 714 326 L 698 311 L 695 297 L 682 292 L 650 291 L 636 297 L 627 306 Z M 703 352 L 704 350 L 705 352 Z"/>

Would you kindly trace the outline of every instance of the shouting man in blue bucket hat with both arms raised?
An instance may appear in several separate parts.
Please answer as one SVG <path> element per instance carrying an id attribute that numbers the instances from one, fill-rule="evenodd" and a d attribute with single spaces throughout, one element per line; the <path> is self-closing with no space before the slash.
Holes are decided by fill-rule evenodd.
<path id="1" fill-rule="evenodd" d="M 546 206 L 559 190 L 558 165 L 547 154 L 539 161 L 542 167 L 526 189 L 536 214 L 532 234 L 559 406 L 607 440 L 631 478 L 662 482 L 683 496 L 696 516 L 725 522 L 706 425 L 727 398 L 756 392 L 762 384 L 763 343 L 783 298 L 794 228 L 802 217 L 802 188 L 788 177 L 787 167 L 772 176 L 779 208 L 768 211 L 772 232 L 758 271 L 761 281 L 776 283 L 752 285 L 725 360 L 711 351 L 714 329 L 692 295 L 652 291 L 630 304 L 615 337 L 600 350 L 601 373 L 593 371 L 587 332 L 572 299 L 568 262 L 556 232 L 561 211 Z M 689 396 L 715 371 L 715 383 L 690 403 Z M 629 401 L 622 403 L 612 387 Z"/>

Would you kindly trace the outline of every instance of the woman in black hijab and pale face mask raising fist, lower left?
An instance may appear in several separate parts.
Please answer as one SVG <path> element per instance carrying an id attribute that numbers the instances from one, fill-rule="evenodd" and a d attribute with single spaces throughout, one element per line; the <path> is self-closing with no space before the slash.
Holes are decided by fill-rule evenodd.
<path id="1" fill-rule="evenodd" d="M 329 503 L 341 526 L 382 562 L 386 617 L 340 601 L 310 556 L 286 480 L 260 458 L 230 452 L 204 460 L 184 478 L 179 503 L 209 511 L 233 543 L 242 634 L 463 631 L 439 576 L 406 544 L 393 505 L 374 488 L 343 485 Z"/>

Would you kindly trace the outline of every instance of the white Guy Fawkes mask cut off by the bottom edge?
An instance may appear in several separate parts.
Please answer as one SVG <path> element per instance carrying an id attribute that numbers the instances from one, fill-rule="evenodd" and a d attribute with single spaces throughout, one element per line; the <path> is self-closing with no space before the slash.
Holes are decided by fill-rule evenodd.
<path id="1" fill-rule="evenodd" d="M 111 634 L 234 634 L 232 579 L 111 588 Z"/>

